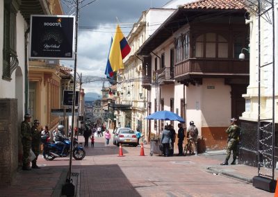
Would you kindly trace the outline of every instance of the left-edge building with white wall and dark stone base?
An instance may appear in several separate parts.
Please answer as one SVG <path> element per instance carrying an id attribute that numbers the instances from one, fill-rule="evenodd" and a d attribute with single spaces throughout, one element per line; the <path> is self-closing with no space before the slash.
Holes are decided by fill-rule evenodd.
<path id="1" fill-rule="evenodd" d="M 0 184 L 10 184 L 22 157 L 20 123 L 28 111 L 28 33 L 31 15 L 51 15 L 60 1 L 0 1 Z M 59 10 L 59 8 L 58 8 Z"/>

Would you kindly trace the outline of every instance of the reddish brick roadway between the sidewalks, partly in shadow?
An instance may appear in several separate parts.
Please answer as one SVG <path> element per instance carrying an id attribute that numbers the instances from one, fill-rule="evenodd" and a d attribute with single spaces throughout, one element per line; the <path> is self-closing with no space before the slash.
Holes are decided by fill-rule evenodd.
<path id="1" fill-rule="evenodd" d="M 123 146 L 124 157 L 118 157 L 119 148 L 112 142 L 105 146 L 104 137 L 95 137 L 95 148 L 89 142 L 85 151 L 83 160 L 72 162 L 80 180 L 76 196 L 273 196 L 250 183 L 209 172 L 208 166 L 220 164 L 215 157 L 151 157 L 149 144 L 145 157 L 139 156 L 140 146 Z M 40 156 L 39 164 L 65 167 L 69 159 L 49 162 Z"/>

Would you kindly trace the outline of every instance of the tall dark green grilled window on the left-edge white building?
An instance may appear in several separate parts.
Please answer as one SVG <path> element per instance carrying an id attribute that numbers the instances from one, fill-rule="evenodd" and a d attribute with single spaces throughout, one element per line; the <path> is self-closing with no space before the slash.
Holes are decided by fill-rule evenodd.
<path id="1" fill-rule="evenodd" d="M 5 80 L 11 80 L 13 71 L 17 68 L 16 52 L 16 16 L 17 10 L 14 5 L 17 1 L 4 1 L 3 15 L 3 76 Z"/>

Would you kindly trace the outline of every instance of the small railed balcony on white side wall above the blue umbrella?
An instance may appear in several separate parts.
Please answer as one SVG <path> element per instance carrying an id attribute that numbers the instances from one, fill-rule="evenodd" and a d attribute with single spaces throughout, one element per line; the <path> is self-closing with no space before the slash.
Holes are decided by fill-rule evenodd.
<path id="1" fill-rule="evenodd" d="M 170 67 L 165 67 L 154 71 L 154 78 L 158 78 L 158 83 L 163 84 L 172 84 L 174 83 L 174 69 Z"/>

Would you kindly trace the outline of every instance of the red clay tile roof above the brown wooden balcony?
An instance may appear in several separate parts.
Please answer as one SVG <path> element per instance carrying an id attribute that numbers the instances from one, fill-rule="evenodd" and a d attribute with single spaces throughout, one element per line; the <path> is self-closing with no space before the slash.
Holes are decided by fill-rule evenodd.
<path id="1" fill-rule="evenodd" d="M 241 10 L 245 9 L 243 0 L 199 0 L 187 3 L 181 8 L 186 9 L 215 9 L 215 10 Z"/>

